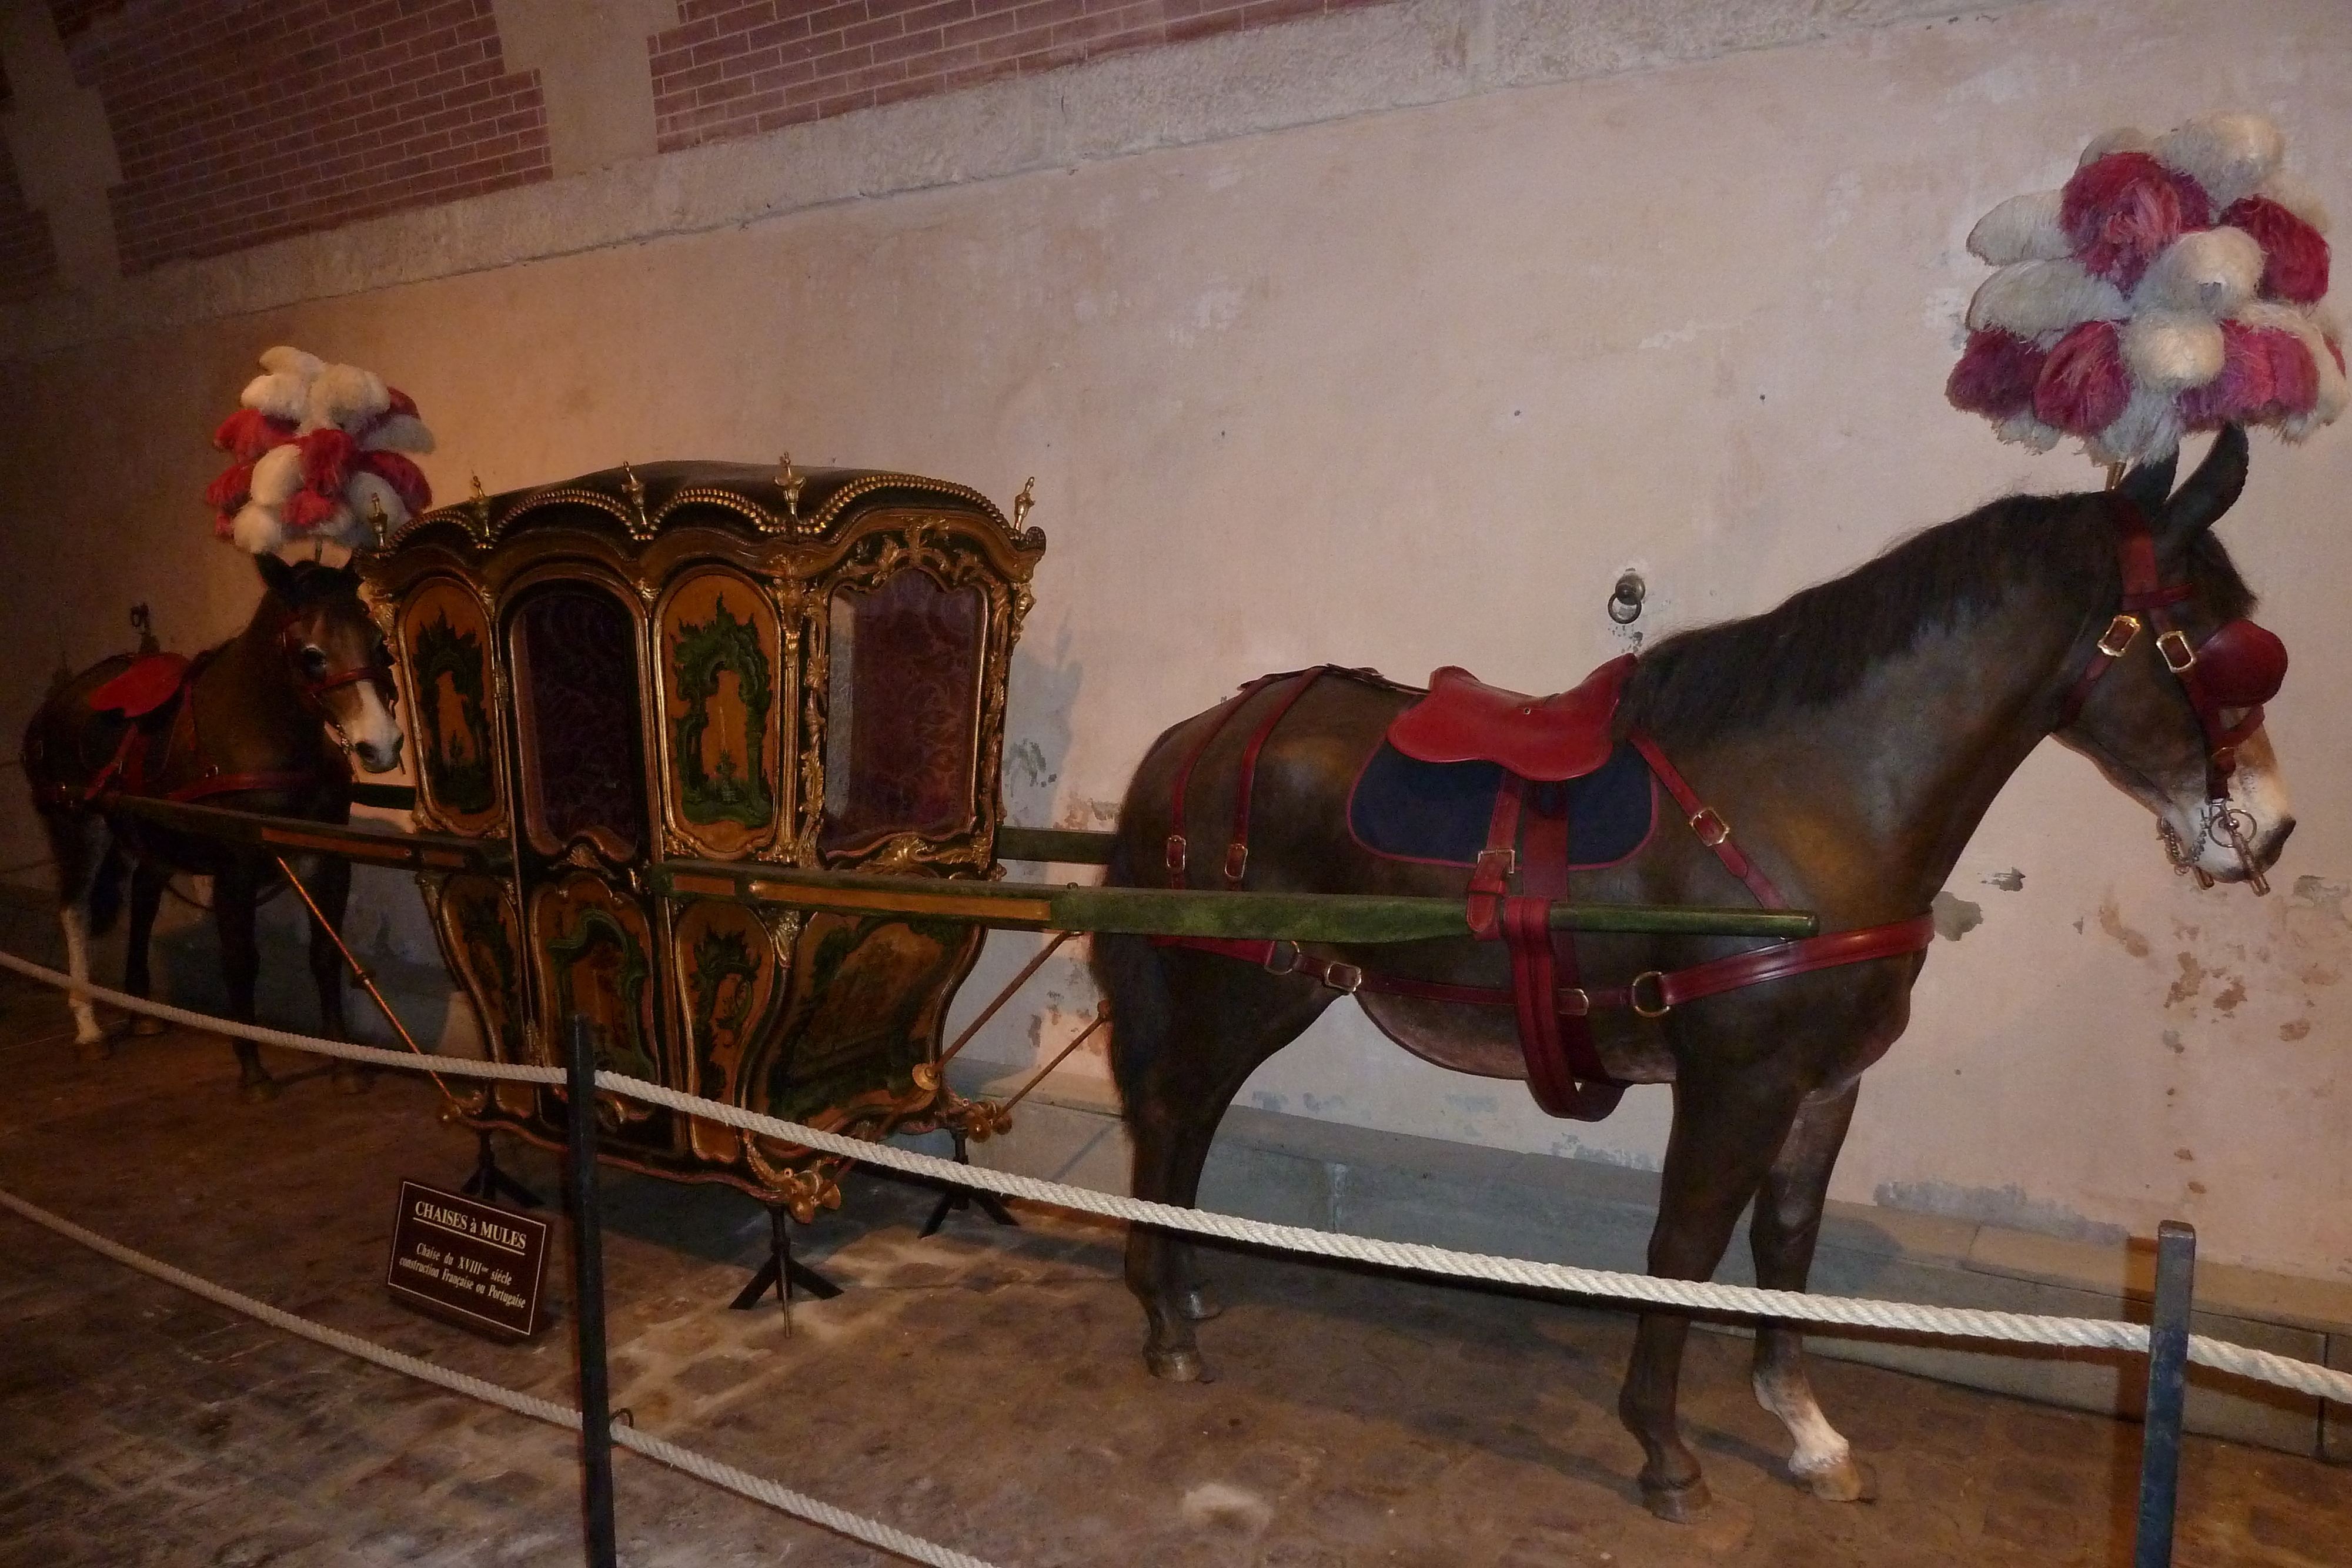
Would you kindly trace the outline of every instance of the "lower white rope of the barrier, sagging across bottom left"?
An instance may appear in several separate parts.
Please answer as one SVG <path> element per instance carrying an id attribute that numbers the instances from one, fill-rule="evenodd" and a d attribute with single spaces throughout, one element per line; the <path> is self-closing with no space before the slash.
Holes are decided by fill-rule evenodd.
<path id="1" fill-rule="evenodd" d="M 454 1373 L 447 1366 L 435 1366 L 433 1361 L 419 1361 L 416 1356 L 405 1356 L 397 1349 L 388 1349 L 383 1345 L 376 1345 L 374 1340 L 362 1340 L 360 1335 L 343 1333 L 341 1328 L 327 1328 L 325 1324 L 313 1324 L 310 1319 L 294 1316 L 292 1312 L 282 1312 L 263 1300 L 254 1300 L 252 1295 L 240 1295 L 226 1286 L 216 1286 L 200 1274 L 188 1274 L 186 1269 L 176 1269 L 169 1262 L 162 1262 L 160 1258 L 148 1258 L 146 1253 L 132 1251 L 120 1241 L 108 1241 L 94 1229 L 82 1229 L 80 1225 L 66 1220 L 64 1215 L 54 1215 L 47 1208 L 40 1208 L 38 1204 L 26 1204 L 14 1192 L 0 1190 L 0 1208 L 9 1208 L 16 1215 L 31 1220 L 33 1225 L 52 1229 L 59 1237 L 66 1237 L 68 1241 L 78 1241 L 89 1251 L 113 1258 L 115 1262 L 129 1269 L 151 1274 L 169 1286 L 179 1286 L 191 1295 L 202 1295 L 205 1300 L 219 1307 L 228 1307 L 230 1312 L 242 1312 L 245 1316 L 263 1321 L 270 1328 L 282 1328 L 285 1333 L 301 1335 L 303 1340 L 325 1345 L 327 1349 L 339 1349 L 346 1356 L 358 1356 L 360 1361 L 374 1361 L 381 1368 L 402 1373 L 407 1378 L 416 1378 L 421 1382 L 430 1382 L 435 1387 L 445 1387 L 452 1394 L 466 1394 L 470 1399 L 494 1403 L 503 1410 L 513 1410 L 515 1415 L 543 1420 L 550 1427 L 562 1427 L 567 1432 L 581 1429 L 581 1413 L 567 1403 L 555 1403 L 553 1399 L 539 1399 L 534 1394 L 517 1394 L 510 1387 L 487 1382 L 468 1373 Z M 877 1547 L 882 1552 L 891 1552 L 896 1556 L 906 1556 L 917 1563 L 931 1563 L 934 1568 L 993 1568 L 988 1561 L 978 1556 L 955 1552 L 953 1547 L 941 1547 L 920 1535 L 908 1535 L 896 1526 L 887 1526 L 875 1519 L 851 1514 L 849 1509 L 837 1509 L 830 1502 L 818 1502 L 816 1497 L 809 1497 L 807 1493 L 795 1493 L 793 1488 L 779 1486 L 767 1476 L 755 1476 L 748 1469 L 722 1465 L 708 1455 L 694 1453 L 691 1448 L 680 1448 L 677 1443 L 663 1441 L 659 1436 L 647 1436 L 644 1432 L 637 1432 L 635 1427 L 628 1427 L 623 1422 L 612 1425 L 612 1441 L 619 1443 L 621 1448 L 633 1448 L 649 1460 L 659 1460 L 670 1469 L 682 1469 L 689 1476 L 699 1476 L 741 1497 L 750 1497 L 753 1502 L 764 1502 L 771 1509 L 793 1514 L 795 1519 L 804 1519 L 814 1526 L 835 1530 L 837 1535 L 849 1535 L 851 1540 L 861 1540 L 868 1547 Z"/>

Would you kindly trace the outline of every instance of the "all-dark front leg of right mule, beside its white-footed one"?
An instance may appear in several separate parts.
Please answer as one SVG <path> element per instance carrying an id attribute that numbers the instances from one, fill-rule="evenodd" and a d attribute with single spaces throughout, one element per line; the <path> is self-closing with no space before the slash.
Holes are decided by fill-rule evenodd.
<path id="1" fill-rule="evenodd" d="M 1712 1079 L 1712 1081 L 1710 1081 Z M 1684 1070 L 1675 1081 L 1675 1126 L 1665 1140 L 1658 1225 L 1649 1237 L 1649 1272 L 1658 1279 L 1712 1279 L 1731 1246 L 1740 1211 L 1797 1114 L 1799 1091 L 1740 1084 L 1729 1074 Z M 1642 1443 L 1642 1502 L 1658 1519 L 1686 1521 L 1708 1507 L 1698 1458 L 1675 1420 L 1682 1347 L 1691 1319 L 1644 1312 L 1632 1361 L 1618 1392 L 1618 1420 Z"/>

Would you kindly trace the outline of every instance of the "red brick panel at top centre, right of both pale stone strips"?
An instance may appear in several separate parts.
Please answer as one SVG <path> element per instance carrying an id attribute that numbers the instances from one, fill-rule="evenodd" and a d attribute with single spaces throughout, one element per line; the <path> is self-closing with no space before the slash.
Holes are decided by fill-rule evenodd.
<path id="1" fill-rule="evenodd" d="M 656 33 L 663 153 L 1378 0 L 680 0 Z"/>

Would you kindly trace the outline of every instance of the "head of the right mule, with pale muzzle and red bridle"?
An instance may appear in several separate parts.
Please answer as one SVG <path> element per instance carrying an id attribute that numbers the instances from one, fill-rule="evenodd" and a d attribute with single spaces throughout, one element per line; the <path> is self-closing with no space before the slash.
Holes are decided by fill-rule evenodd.
<path id="1" fill-rule="evenodd" d="M 2185 597 L 2126 604 L 2112 621 L 2100 609 L 2100 646 L 2086 658 L 2112 665 L 2058 738 L 2157 813 L 2176 870 L 2267 891 L 2263 872 L 2296 827 L 2263 731 L 2263 703 L 2286 677 L 2286 649 L 2246 618 L 2253 595 L 2211 534 L 2246 484 L 2246 433 L 2223 428 L 2180 489 L 2171 477 L 2166 458 L 2133 470 L 2119 491 L 2147 520 L 2159 597 Z M 2129 548 L 2124 555 L 2129 576 Z"/>

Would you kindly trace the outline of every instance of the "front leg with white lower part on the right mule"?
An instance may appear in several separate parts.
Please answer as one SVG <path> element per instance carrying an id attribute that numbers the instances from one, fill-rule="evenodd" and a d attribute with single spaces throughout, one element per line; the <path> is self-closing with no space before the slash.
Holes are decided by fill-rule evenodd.
<path id="1" fill-rule="evenodd" d="M 1764 1173 L 1748 1244 L 1757 1260 L 1757 1284 L 1766 1291 L 1802 1291 L 1820 1241 L 1820 1206 L 1830 1190 L 1830 1166 L 1846 1143 L 1860 1084 L 1835 1100 L 1806 1103 L 1797 1112 L 1778 1159 Z M 1755 1359 L 1757 1403 L 1780 1418 L 1795 1443 L 1788 1474 L 1816 1497 L 1863 1502 L 1877 1495 L 1870 1467 L 1853 1458 L 1846 1439 L 1820 1413 L 1804 1375 L 1804 1333 L 1792 1324 L 1762 1324 Z"/>

